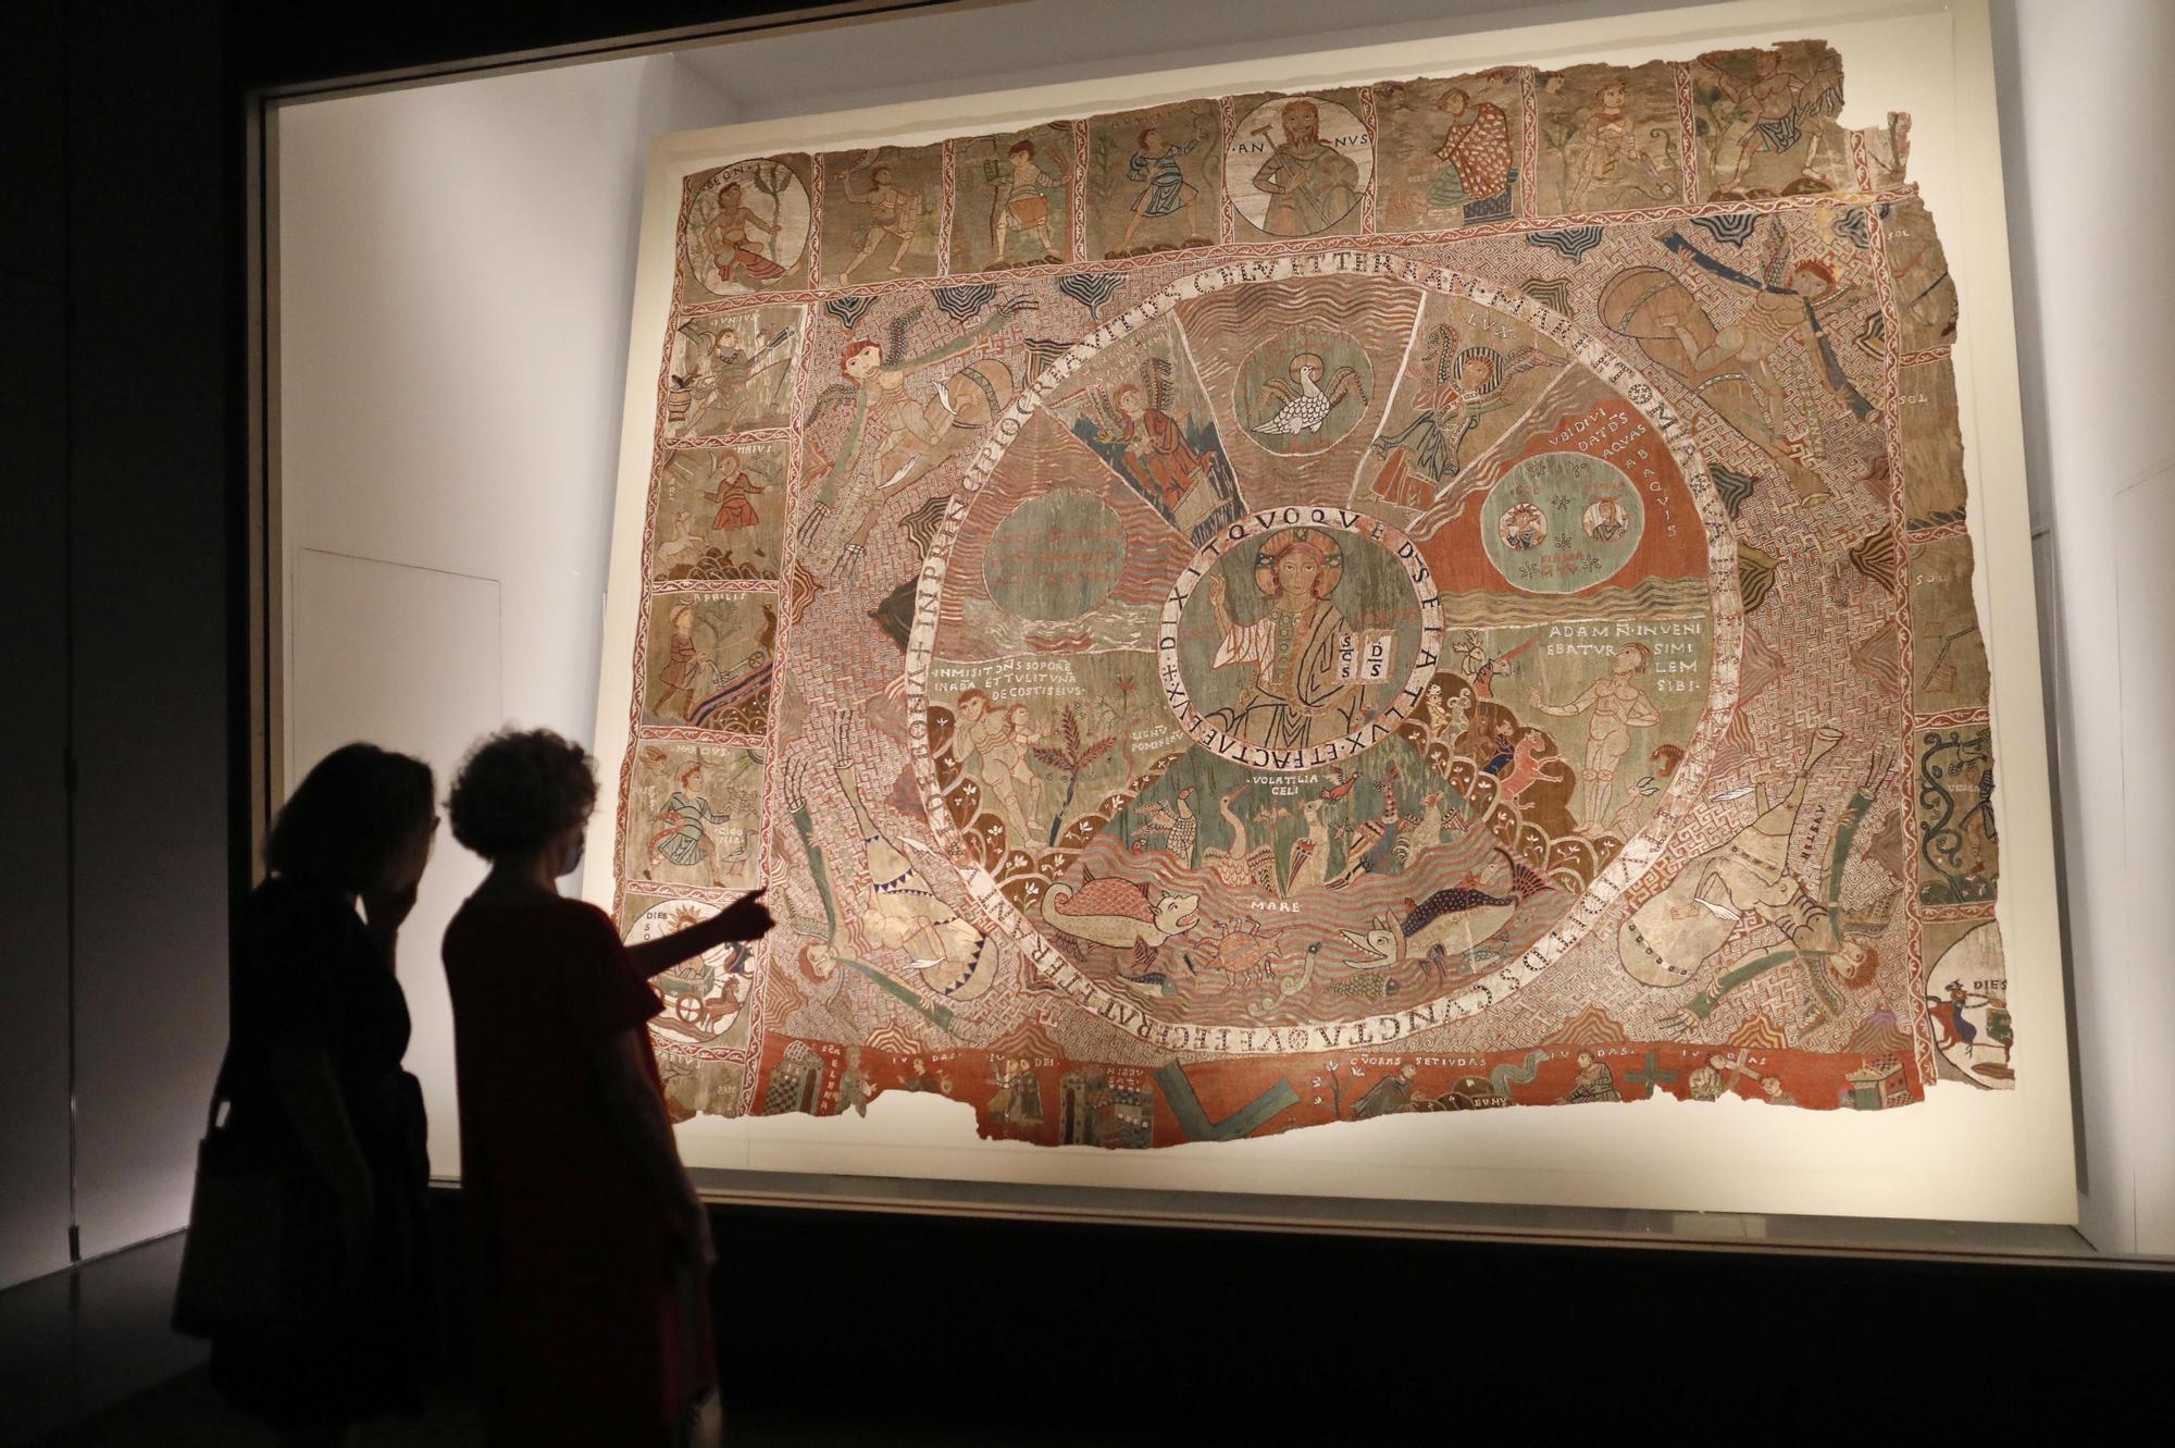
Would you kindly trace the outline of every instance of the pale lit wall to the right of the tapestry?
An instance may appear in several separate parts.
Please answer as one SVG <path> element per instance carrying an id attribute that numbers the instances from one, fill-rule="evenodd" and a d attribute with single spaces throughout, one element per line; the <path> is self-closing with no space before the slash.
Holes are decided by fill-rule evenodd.
<path id="1" fill-rule="evenodd" d="M 2175 1252 L 2175 7 L 1997 0 L 2025 439 L 2053 678 L 2084 1231 Z M 2105 137 L 2105 139 L 2101 139 Z"/>

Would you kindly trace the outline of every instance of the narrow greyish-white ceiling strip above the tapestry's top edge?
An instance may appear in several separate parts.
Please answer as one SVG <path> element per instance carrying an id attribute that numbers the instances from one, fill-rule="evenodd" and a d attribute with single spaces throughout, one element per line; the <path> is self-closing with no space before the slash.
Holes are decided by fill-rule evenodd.
<path id="1" fill-rule="evenodd" d="M 720 41 L 679 59 L 731 120 L 774 120 L 972 89 L 1394 43 L 1686 0 L 998 0 Z M 1307 41 L 1314 41 L 1307 46 Z"/>

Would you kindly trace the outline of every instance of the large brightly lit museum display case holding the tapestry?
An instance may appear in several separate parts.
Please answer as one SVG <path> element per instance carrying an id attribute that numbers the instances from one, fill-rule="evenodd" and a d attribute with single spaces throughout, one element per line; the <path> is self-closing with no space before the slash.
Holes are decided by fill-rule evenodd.
<path id="1" fill-rule="evenodd" d="M 550 722 L 629 939 L 766 889 L 718 1200 L 2175 1248 L 1988 7 L 1057 9 L 268 96 L 265 796 Z"/>

